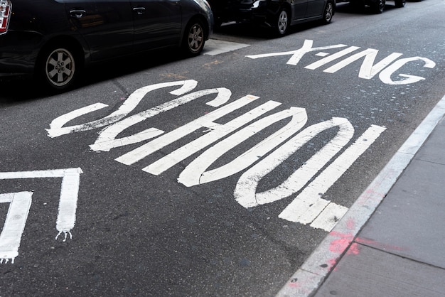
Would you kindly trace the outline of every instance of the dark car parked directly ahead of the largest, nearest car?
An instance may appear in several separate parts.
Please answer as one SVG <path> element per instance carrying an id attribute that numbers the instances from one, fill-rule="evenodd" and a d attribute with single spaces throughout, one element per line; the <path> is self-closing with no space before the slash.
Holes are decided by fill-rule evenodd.
<path id="1" fill-rule="evenodd" d="M 215 27 L 236 21 L 259 23 L 283 36 L 297 23 L 322 20 L 331 23 L 335 0 L 208 0 Z"/>

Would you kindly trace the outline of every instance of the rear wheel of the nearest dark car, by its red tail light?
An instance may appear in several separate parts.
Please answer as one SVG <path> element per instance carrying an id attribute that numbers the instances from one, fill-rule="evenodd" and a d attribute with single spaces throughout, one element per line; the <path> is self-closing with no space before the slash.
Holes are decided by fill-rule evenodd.
<path id="1" fill-rule="evenodd" d="M 43 51 L 37 65 L 38 79 L 49 90 L 64 91 L 75 85 L 80 72 L 80 59 L 65 45 L 51 46 Z"/>

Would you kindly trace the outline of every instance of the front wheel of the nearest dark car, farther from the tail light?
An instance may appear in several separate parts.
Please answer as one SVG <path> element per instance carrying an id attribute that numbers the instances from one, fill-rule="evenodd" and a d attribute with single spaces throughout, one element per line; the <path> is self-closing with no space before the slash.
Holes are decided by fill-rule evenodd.
<path id="1" fill-rule="evenodd" d="M 186 28 L 183 38 L 183 51 L 188 56 L 199 55 L 205 43 L 205 29 L 203 22 L 196 19 Z"/>

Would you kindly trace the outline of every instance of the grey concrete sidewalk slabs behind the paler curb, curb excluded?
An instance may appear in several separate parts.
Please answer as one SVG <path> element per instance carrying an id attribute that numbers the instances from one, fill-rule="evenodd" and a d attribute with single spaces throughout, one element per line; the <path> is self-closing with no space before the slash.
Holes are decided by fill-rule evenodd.
<path id="1" fill-rule="evenodd" d="M 315 296 L 445 296 L 443 119 Z"/>

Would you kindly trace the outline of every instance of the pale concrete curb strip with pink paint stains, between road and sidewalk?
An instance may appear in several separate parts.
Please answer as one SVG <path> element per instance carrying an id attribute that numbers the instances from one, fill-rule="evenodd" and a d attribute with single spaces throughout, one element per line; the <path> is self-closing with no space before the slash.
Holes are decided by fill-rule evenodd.
<path id="1" fill-rule="evenodd" d="M 311 296 L 312 293 L 315 293 L 318 286 L 323 283 L 333 266 L 340 261 L 342 254 L 348 249 L 365 222 L 369 220 L 382 199 L 414 158 L 414 154 L 419 151 L 429 134 L 444 117 L 444 114 L 445 96 L 429 112 L 428 116 L 404 142 L 390 162 L 380 171 L 379 175 L 337 223 L 336 227 L 301 265 L 301 268 L 291 276 L 289 281 L 277 293 L 277 297 Z"/>

